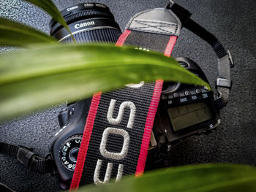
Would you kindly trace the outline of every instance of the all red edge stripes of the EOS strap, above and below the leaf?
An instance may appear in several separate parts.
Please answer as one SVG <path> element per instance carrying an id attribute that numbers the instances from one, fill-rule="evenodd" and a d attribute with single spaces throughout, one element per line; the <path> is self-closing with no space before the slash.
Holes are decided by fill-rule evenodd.
<path id="1" fill-rule="evenodd" d="M 131 31 L 126 29 L 124 31 L 124 33 L 121 34 L 118 41 L 116 42 L 116 46 L 124 45 L 124 42 L 130 33 L 131 33 Z M 164 53 L 165 56 L 170 57 L 170 54 L 172 53 L 173 47 L 176 43 L 176 39 L 177 39 L 176 36 L 170 37 L 169 42 L 167 43 L 167 46 L 165 48 L 165 53 Z M 159 99 L 161 96 L 162 84 L 163 84 L 163 80 L 157 80 L 155 87 L 154 87 L 153 97 L 152 97 L 151 104 L 150 104 L 150 107 L 148 110 L 148 115 L 146 118 L 146 125 L 144 128 L 143 140 L 142 140 L 142 144 L 140 147 L 140 155 L 138 158 L 138 164 L 137 164 L 135 176 L 140 176 L 144 172 L 146 158 L 148 155 L 148 145 L 149 145 L 150 138 L 151 138 L 151 130 L 152 130 L 152 127 L 154 124 L 154 117 L 156 115 L 157 107 L 159 104 Z M 80 145 L 80 150 L 78 153 L 78 161 L 77 161 L 77 164 L 75 167 L 75 172 L 72 177 L 70 191 L 77 190 L 79 187 L 80 178 L 83 173 L 83 166 L 86 161 L 86 153 L 87 153 L 87 150 L 89 147 L 89 141 L 91 138 L 91 131 L 93 129 L 94 120 L 95 120 L 95 117 L 97 114 L 97 109 L 99 107 L 100 97 L 101 97 L 101 92 L 94 93 L 93 99 L 91 100 L 91 107 L 89 110 L 88 118 L 86 119 L 86 126 L 85 126 L 84 132 L 83 132 L 83 139 L 82 139 L 82 142 Z"/>

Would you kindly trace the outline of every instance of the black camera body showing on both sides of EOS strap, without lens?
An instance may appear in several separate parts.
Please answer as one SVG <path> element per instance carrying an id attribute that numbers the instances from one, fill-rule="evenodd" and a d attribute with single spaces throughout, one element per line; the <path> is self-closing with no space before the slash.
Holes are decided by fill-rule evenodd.
<path id="1" fill-rule="evenodd" d="M 181 66 L 207 81 L 205 74 L 195 62 L 189 58 L 177 58 L 177 61 Z M 51 151 L 62 188 L 68 188 L 72 180 L 90 104 L 91 99 L 78 101 L 75 104 L 69 104 L 59 113 L 61 129 L 53 138 Z M 180 108 L 183 108 L 183 111 Z M 172 112 L 168 113 L 170 110 Z M 175 110 L 181 112 L 176 114 Z M 168 114 L 176 114 L 176 117 Z M 185 117 L 182 117 L 184 114 Z M 197 115 L 197 119 L 179 125 L 180 121 L 184 122 L 184 119 L 187 119 L 186 115 L 189 117 Z M 181 120 L 177 120 L 178 117 Z M 159 161 L 162 154 L 167 154 L 173 143 L 191 134 L 208 133 L 219 123 L 219 112 L 214 107 L 212 91 L 198 85 L 165 82 L 154 121 L 153 134 L 151 134 L 151 144 L 148 150 L 148 157 L 151 158 L 148 158 L 148 161 Z"/>

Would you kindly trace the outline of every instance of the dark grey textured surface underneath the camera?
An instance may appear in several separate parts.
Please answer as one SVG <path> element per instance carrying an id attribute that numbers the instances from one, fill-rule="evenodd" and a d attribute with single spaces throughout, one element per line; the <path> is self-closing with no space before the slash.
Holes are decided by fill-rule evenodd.
<path id="1" fill-rule="evenodd" d="M 84 1 L 55 1 L 59 9 Z M 99 1 L 108 5 L 117 23 L 124 26 L 136 12 L 165 7 L 166 1 Z M 244 0 L 176 0 L 194 14 L 192 18 L 229 47 L 236 62 L 232 69 L 233 89 L 227 107 L 222 110 L 222 124 L 205 136 L 193 136 L 173 148 L 173 166 L 228 162 L 256 165 L 256 1 Z M 12 18 L 49 33 L 50 17 L 20 0 L 0 0 L 0 16 Z M 1 49 L 6 50 L 4 48 Z M 187 56 L 206 72 L 211 85 L 217 75 L 217 58 L 211 47 L 183 29 L 174 56 Z M 61 106 L 36 112 L 24 118 L 0 124 L 0 141 L 34 147 L 40 155 L 59 130 L 57 115 Z M 16 191 L 59 191 L 55 177 L 29 172 L 7 155 L 0 154 L 0 183 Z"/>

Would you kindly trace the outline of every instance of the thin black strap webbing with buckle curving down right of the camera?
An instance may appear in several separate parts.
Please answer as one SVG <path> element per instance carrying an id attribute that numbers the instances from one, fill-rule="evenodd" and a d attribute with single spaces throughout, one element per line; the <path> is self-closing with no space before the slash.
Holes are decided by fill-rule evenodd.
<path id="1" fill-rule="evenodd" d="M 170 3 L 166 8 L 172 10 L 178 16 L 182 26 L 208 42 L 216 53 L 218 58 L 218 74 L 216 80 L 217 96 L 215 97 L 215 101 L 217 102 L 219 109 L 222 109 L 227 104 L 230 89 L 232 87 L 230 68 L 234 66 L 234 63 L 230 51 L 225 50 L 217 37 L 214 37 L 214 35 L 205 28 L 190 19 L 192 14 L 187 9 L 184 9 L 184 7 L 181 7 L 172 0 L 170 0 Z"/>

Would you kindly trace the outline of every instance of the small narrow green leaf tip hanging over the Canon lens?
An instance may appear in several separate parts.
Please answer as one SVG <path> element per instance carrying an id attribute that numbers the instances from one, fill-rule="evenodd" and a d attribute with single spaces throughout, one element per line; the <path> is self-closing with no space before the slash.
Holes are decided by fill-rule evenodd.
<path id="1" fill-rule="evenodd" d="M 64 28 L 67 29 L 67 31 L 69 31 L 69 34 L 71 34 L 71 37 L 75 42 L 75 39 L 72 36 L 69 26 L 67 26 L 67 23 L 62 17 L 61 12 L 59 12 L 59 9 L 55 6 L 55 4 L 53 4 L 53 1 L 51 0 L 24 0 L 24 1 L 28 1 L 31 4 L 37 5 L 41 9 L 45 10 L 45 12 L 48 12 L 48 14 L 53 18 L 53 20 L 56 20 L 57 22 L 59 22 L 62 26 L 64 26 Z"/>

